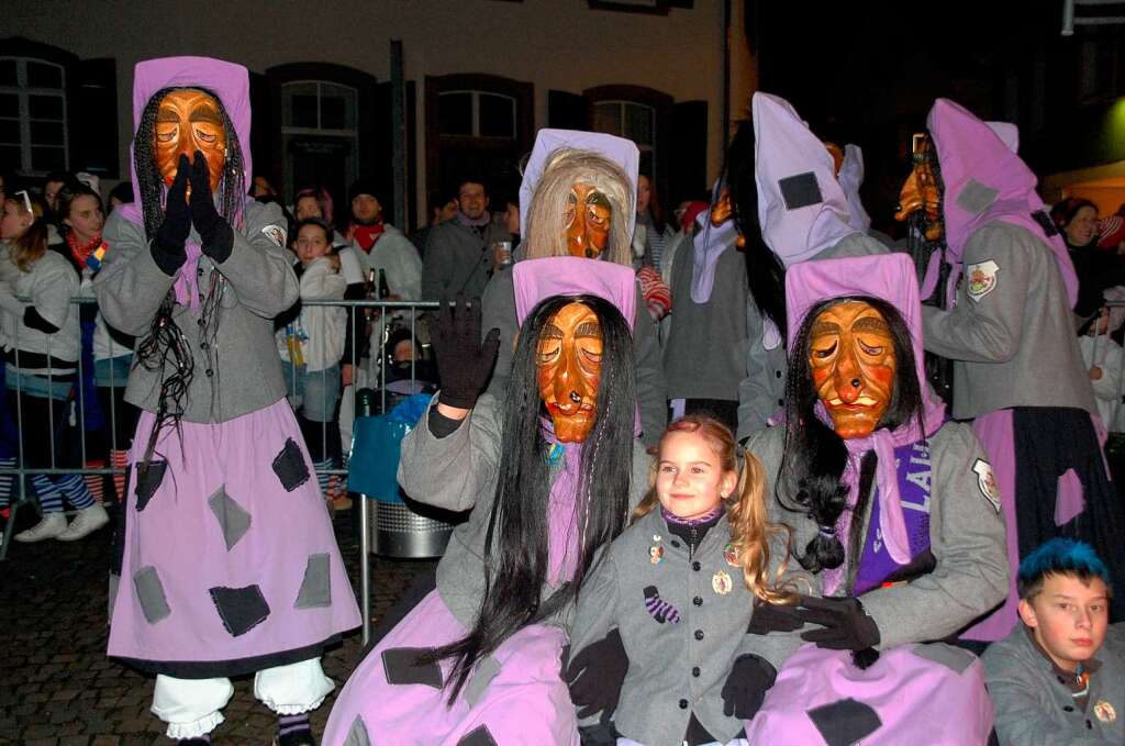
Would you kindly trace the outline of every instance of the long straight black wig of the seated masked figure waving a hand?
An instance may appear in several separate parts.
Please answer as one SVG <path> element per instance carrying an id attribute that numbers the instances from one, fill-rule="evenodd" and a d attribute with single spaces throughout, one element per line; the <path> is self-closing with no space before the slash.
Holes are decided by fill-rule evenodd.
<path id="1" fill-rule="evenodd" d="M 536 356 L 543 327 L 562 306 L 582 303 L 602 327 L 597 412 L 582 444 L 577 496 L 580 538 L 569 583 L 540 601 L 548 573 L 551 444 L 543 433 Z M 633 345 L 629 326 L 608 300 L 591 295 L 554 296 L 537 305 L 520 329 L 504 408 L 503 448 L 488 530 L 485 587 L 468 636 L 439 648 L 433 659 L 453 658 L 449 701 L 457 699 L 472 667 L 512 635 L 548 619 L 573 601 L 594 564 L 594 554 L 624 529 L 629 518 L 636 417 Z"/>

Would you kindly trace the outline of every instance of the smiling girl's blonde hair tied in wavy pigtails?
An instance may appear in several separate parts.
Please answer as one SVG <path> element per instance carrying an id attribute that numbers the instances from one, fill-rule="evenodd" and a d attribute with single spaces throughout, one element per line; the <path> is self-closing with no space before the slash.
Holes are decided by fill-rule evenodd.
<path id="1" fill-rule="evenodd" d="M 765 503 L 765 470 L 762 468 L 762 462 L 754 453 L 742 449 L 742 465 L 739 469 L 739 448 L 735 444 L 735 437 L 730 429 L 718 420 L 688 414 L 668 425 L 657 446 L 657 458 L 654 460 L 650 477 L 651 486 L 633 510 L 631 521 L 636 523 L 659 506 L 660 501 L 656 495 L 659 451 L 664 447 L 665 439 L 677 432 L 699 434 L 719 457 L 719 467 L 722 471 L 738 474 L 738 486 L 723 502 L 730 524 L 730 543 L 738 554 L 738 565 L 742 568 L 746 587 L 756 599 L 766 603 L 791 603 L 795 599 L 796 591 L 790 584 L 781 583 L 791 557 L 789 527 L 770 523 Z M 770 541 L 774 537 L 784 538 L 785 556 L 771 577 Z"/>

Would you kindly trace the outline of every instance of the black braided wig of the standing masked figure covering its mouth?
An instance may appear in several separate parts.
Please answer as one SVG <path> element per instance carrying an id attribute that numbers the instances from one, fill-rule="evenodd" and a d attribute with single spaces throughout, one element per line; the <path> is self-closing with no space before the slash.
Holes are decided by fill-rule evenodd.
<path id="1" fill-rule="evenodd" d="M 164 185 L 160 177 L 160 169 L 156 167 L 154 143 L 156 114 L 164 97 L 177 90 L 200 90 L 212 96 L 218 104 L 226 131 L 226 162 L 223 167 L 218 194 L 215 195 L 215 207 L 219 215 L 234 227 L 237 227 L 238 210 L 246 192 L 242 143 L 238 141 L 234 124 L 223 106 L 223 100 L 215 92 L 202 87 L 162 88 L 153 93 L 148 104 L 145 105 L 144 111 L 141 114 L 141 124 L 137 125 L 133 140 L 133 165 L 137 178 L 136 195 L 141 201 L 145 235 L 148 241 L 155 239 L 156 232 L 164 221 Z M 199 324 L 199 341 L 208 342 L 208 344 L 201 345 L 201 349 L 206 350 L 208 357 L 206 367 L 216 371 L 212 379 L 216 390 L 218 390 L 219 385 L 218 366 L 212 356 L 217 349 L 213 342 L 218 327 L 223 287 L 222 275 L 212 272 L 210 287 L 204 296 L 204 305 L 199 316 L 201 322 Z M 156 407 L 156 422 L 148 437 L 142 468 L 146 468 L 152 460 L 161 431 L 168 426 L 179 426 L 186 410 L 184 397 L 195 376 L 191 348 L 173 318 L 174 307 L 176 291 L 172 289 L 161 302 L 147 336 L 141 341 L 137 348 L 135 365 L 144 366 L 148 370 L 160 370 L 160 401 Z"/>

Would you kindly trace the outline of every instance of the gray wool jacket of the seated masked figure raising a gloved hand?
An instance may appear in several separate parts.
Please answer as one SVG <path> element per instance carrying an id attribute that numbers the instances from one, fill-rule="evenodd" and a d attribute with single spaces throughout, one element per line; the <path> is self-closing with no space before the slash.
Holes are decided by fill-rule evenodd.
<path id="1" fill-rule="evenodd" d="M 430 407 L 438 401 L 436 395 Z M 477 399 L 472 412 L 444 438 L 426 424 L 430 407 L 406 438 L 398 462 L 398 484 L 418 502 L 450 511 L 470 510 L 469 520 L 453 529 L 449 546 L 438 563 L 438 593 L 466 628 L 471 629 L 480 610 L 485 579 L 485 534 L 496 495 L 503 425 L 500 405 L 490 394 Z M 633 443 L 629 510 L 648 491 L 651 457 L 639 441 Z M 544 586 L 546 600 L 557 588 Z M 574 604 L 546 623 L 569 630 Z"/>

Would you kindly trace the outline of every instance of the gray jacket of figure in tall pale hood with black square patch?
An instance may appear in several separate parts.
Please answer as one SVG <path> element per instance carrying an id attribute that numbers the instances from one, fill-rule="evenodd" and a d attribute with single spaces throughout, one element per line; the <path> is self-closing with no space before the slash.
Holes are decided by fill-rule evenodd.
<path id="1" fill-rule="evenodd" d="M 890 250 L 880 241 L 863 233 L 850 233 L 825 249 L 809 261 L 870 257 Z M 776 332 L 776 330 L 773 330 Z M 754 298 L 746 302 L 746 377 L 738 385 L 738 440 L 753 435 L 767 425 L 767 421 L 785 405 L 785 379 L 789 358 L 785 340 L 766 349 L 766 322 Z M 776 336 L 776 333 L 771 334 Z"/>

